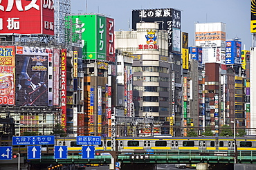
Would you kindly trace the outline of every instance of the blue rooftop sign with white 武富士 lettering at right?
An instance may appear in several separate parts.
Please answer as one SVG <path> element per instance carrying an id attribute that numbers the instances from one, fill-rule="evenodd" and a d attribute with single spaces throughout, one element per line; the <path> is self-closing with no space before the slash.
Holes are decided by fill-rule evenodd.
<path id="1" fill-rule="evenodd" d="M 241 64 L 241 41 L 226 41 L 226 65 Z"/>

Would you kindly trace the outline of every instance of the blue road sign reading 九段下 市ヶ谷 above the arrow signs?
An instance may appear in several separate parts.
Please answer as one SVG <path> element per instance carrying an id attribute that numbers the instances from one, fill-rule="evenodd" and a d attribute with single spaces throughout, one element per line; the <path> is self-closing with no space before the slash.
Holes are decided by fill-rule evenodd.
<path id="1" fill-rule="evenodd" d="M 54 135 L 14 136 L 12 145 L 54 144 Z"/>

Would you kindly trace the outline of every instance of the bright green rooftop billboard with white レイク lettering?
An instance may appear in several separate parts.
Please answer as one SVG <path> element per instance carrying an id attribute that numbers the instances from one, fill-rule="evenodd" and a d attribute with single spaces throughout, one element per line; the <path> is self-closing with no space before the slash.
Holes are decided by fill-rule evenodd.
<path id="1" fill-rule="evenodd" d="M 107 50 L 107 21 L 100 15 L 72 15 L 77 26 L 74 32 L 82 35 L 82 59 L 106 59 Z"/>

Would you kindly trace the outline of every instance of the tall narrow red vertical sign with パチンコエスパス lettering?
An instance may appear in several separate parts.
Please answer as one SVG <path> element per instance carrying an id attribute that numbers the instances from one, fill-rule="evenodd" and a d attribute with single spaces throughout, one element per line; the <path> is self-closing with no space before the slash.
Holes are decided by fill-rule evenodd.
<path id="1" fill-rule="evenodd" d="M 66 49 L 62 49 L 61 51 L 61 107 L 62 107 L 62 127 L 64 131 L 66 131 Z"/>

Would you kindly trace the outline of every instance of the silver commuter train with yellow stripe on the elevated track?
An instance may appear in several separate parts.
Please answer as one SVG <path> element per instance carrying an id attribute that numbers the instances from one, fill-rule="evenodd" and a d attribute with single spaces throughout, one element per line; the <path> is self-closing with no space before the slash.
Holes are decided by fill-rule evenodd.
<path id="1" fill-rule="evenodd" d="M 12 146 L 11 140 L 2 140 L 1 146 Z M 82 145 L 77 144 L 75 137 L 55 138 L 55 145 L 68 146 L 68 151 L 82 151 Z M 19 151 L 26 151 L 25 145 L 13 146 Z M 154 136 L 154 137 L 117 137 L 116 150 L 120 152 L 127 151 L 172 151 L 172 150 L 204 150 L 204 151 L 255 151 L 256 137 L 172 137 L 172 136 Z M 42 151 L 53 151 L 54 145 L 42 145 Z M 95 145 L 97 150 L 111 150 L 111 138 L 101 138 L 101 144 Z"/>

